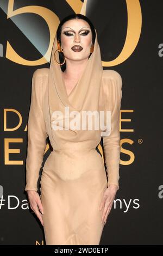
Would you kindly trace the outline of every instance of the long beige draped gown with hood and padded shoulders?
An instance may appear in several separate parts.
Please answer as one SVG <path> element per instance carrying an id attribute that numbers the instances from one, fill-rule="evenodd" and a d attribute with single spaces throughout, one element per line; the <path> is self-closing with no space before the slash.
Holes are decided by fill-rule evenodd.
<path id="1" fill-rule="evenodd" d="M 67 95 L 60 66 L 54 62 L 55 37 L 50 68 L 37 69 L 32 79 L 28 119 L 25 190 L 37 191 L 37 180 L 46 148 L 53 147 L 43 166 L 41 202 L 46 245 L 99 245 L 104 223 L 99 205 L 107 186 L 118 186 L 120 164 L 120 107 L 122 78 L 103 70 L 97 41 L 76 87 Z M 111 111 L 111 133 L 103 136 L 105 163 L 96 147 L 101 130 L 54 130 L 53 111 Z M 62 118 L 66 119 L 66 115 Z M 64 122 L 58 126 L 65 127 Z"/>

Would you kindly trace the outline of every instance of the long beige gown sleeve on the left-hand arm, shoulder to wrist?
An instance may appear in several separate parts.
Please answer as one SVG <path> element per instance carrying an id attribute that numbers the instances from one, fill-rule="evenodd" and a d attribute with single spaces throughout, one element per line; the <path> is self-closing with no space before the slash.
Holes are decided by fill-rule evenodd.
<path id="1" fill-rule="evenodd" d="M 43 118 L 43 74 L 37 69 L 32 77 L 32 95 L 27 125 L 26 187 L 37 191 L 37 181 L 46 148 L 45 121 Z"/>

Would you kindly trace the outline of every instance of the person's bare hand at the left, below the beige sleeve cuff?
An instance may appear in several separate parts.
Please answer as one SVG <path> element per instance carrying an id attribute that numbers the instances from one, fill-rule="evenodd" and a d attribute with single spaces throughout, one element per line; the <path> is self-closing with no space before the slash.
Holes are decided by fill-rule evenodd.
<path id="1" fill-rule="evenodd" d="M 39 218 L 41 224 L 43 225 L 43 220 L 42 220 L 43 206 L 41 203 L 39 193 L 37 193 L 34 190 L 28 190 L 27 194 L 28 194 L 30 208 L 34 211 L 35 215 L 37 216 L 37 218 Z"/>

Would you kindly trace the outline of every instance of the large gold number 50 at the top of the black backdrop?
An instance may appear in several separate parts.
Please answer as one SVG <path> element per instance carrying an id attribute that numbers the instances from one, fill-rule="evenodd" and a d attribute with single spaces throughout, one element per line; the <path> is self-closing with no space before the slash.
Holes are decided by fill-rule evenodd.
<path id="1" fill-rule="evenodd" d="M 86 2 L 87 0 L 82 3 L 80 0 L 67 0 L 67 3 L 71 5 L 75 13 L 86 13 Z M 103 62 L 103 66 L 115 66 L 130 57 L 130 55 L 134 52 L 137 43 L 139 42 L 140 33 L 141 33 L 141 26 L 142 26 L 142 15 L 141 15 L 141 7 L 139 0 L 126 0 L 127 4 L 127 15 L 128 15 L 128 25 L 127 25 L 127 35 L 126 41 L 124 42 L 123 49 L 120 55 L 110 62 Z M 22 7 L 17 10 L 14 9 L 14 0 L 9 0 L 8 3 L 8 16 L 7 19 L 23 14 L 23 13 L 33 13 L 36 15 L 41 16 L 47 23 L 49 31 L 50 31 L 50 41 L 49 47 L 46 54 L 37 60 L 27 60 L 19 56 L 15 50 L 10 45 L 9 41 L 7 41 L 7 51 L 6 51 L 6 58 L 10 59 L 12 62 L 28 65 L 28 66 L 35 66 L 35 65 L 42 65 L 49 62 L 51 57 L 51 50 L 53 46 L 53 41 L 55 37 L 55 33 L 57 31 L 57 27 L 59 25 L 59 18 L 53 11 L 40 6 L 30 5 L 27 7 Z"/>

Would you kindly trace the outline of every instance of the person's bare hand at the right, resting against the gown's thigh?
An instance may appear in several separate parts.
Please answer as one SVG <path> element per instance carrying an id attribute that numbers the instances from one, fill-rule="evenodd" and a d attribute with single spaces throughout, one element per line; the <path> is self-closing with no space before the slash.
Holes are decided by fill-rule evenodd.
<path id="1" fill-rule="evenodd" d="M 106 220 L 110 213 L 117 190 L 118 190 L 118 187 L 116 185 L 110 184 L 110 186 L 106 188 L 103 194 L 103 198 L 102 198 L 99 210 L 101 211 L 103 209 L 102 221 L 104 221 L 104 223 L 106 223 Z"/>

